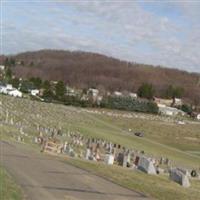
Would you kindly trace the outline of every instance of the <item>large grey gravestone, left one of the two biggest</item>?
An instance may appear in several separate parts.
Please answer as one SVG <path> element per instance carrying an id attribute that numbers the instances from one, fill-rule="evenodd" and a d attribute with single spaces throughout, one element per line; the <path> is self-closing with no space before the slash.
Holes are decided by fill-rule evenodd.
<path id="1" fill-rule="evenodd" d="M 155 166 L 153 165 L 152 160 L 147 157 L 140 157 L 138 162 L 138 169 L 146 172 L 147 174 L 156 174 Z"/>

